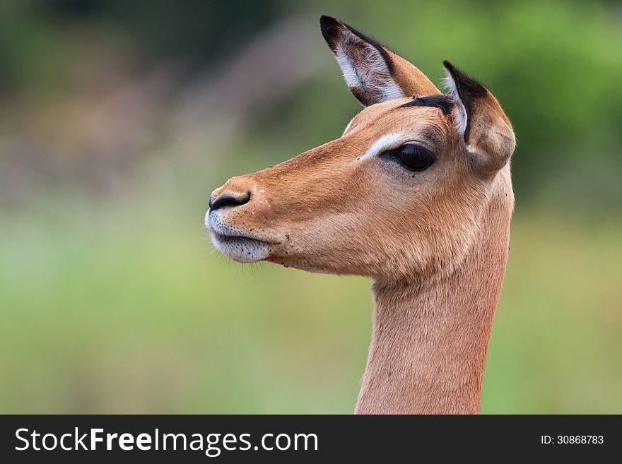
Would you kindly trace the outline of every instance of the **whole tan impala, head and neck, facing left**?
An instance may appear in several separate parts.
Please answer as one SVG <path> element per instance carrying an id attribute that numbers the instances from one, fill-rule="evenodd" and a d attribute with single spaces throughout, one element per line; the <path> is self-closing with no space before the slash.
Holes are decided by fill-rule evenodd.
<path id="1" fill-rule="evenodd" d="M 449 62 L 441 93 L 349 25 L 320 25 L 365 108 L 340 138 L 213 191 L 211 240 L 243 263 L 372 279 L 357 413 L 478 413 L 514 208 L 512 125 Z"/>

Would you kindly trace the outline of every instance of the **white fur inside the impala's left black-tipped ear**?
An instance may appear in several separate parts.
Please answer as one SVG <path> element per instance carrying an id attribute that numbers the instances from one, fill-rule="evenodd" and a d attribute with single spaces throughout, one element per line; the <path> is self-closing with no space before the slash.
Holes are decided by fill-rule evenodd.
<path id="1" fill-rule="evenodd" d="M 358 47 L 363 47 L 363 53 L 348 53 Z M 373 45 L 348 33 L 337 45 L 335 56 L 348 87 L 372 93 L 377 102 L 404 97 L 404 92 L 393 81 L 385 59 Z"/>

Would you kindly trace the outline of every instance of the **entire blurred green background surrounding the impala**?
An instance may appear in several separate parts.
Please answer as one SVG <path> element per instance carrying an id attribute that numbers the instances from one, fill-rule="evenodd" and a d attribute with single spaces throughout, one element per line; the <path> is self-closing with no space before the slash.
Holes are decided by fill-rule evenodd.
<path id="1" fill-rule="evenodd" d="M 483 412 L 622 412 L 622 6 L 0 4 L 0 412 L 353 410 L 365 278 L 212 250 L 209 193 L 359 111 L 327 13 L 515 126 L 517 208 Z"/>

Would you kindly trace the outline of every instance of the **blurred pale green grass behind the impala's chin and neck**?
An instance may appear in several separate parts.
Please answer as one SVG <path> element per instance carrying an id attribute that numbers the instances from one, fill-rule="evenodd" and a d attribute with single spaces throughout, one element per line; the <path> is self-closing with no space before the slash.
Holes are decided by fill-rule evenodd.
<path id="1" fill-rule="evenodd" d="M 4 213 L 0 412 L 353 410 L 367 279 L 242 266 L 201 210 L 132 201 Z M 483 412 L 622 412 L 620 227 L 515 215 Z"/>

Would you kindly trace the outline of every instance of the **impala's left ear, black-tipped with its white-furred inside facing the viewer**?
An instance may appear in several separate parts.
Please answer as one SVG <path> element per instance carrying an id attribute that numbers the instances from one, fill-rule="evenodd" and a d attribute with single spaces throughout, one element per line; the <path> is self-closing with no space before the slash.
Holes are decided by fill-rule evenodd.
<path id="1" fill-rule="evenodd" d="M 363 105 L 440 93 L 416 66 L 346 23 L 322 16 L 319 25 L 346 84 Z"/>

